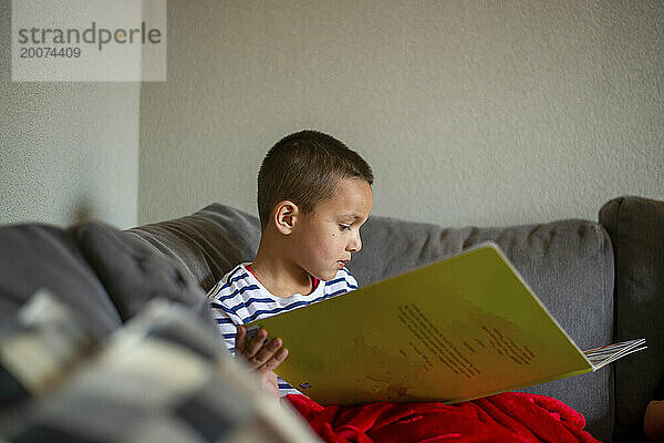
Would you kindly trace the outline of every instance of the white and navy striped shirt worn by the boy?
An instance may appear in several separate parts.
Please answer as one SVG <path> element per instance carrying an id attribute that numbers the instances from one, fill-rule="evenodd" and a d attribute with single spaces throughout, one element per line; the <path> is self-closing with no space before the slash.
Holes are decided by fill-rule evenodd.
<path id="1" fill-rule="evenodd" d="M 288 312 L 357 289 L 355 278 L 347 269 L 342 268 L 332 280 L 320 281 L 313 292 L 307 296 L 295 293 L 290 297 L 277 297 L 258 281 L 247 269 L 247 265 L 249 264 L 236 266 L 208 292 L 212 317 L 232 354 L 237 324 Z M 280 395 L 299 393 L 301 392 L 279 379 Z"/>

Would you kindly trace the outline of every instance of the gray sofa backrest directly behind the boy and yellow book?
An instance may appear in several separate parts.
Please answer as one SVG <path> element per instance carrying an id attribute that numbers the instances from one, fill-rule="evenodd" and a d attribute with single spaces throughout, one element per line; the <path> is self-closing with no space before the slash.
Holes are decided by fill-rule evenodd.
<path id="1" fill-rule="evenodd" d="M 260 239 L 258 218 L 214 204 L 198 213 L 129 230 L 177 260 L 208 290 L 241 261 L 251 261 Z M 371 217 L 363 248 L 349 264 L 360 285 L 426 265 L 486 240 L 495 240 L 541 301 L 582 348 L 606 344 L 613 336 L 613 255 L 604 229 L 592 222 L 563 220 L 504 228 L 443 228 Z M 588 430 L 610 439 L 611 370 L 528 389 L 582 412 Z"/>

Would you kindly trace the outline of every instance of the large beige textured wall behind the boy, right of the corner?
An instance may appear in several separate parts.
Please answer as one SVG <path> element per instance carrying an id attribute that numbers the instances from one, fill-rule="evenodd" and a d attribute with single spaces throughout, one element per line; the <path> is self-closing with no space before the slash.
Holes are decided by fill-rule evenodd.
<path id="1" fill-rule="evenodd" d="M 366 157 L 380 215 L 507 225 L 664 198 L 662 1 L 168 7 L 168 82 L 142 89 L 142 223 L 256 213 L 262 156 L 300 128 Z"/>

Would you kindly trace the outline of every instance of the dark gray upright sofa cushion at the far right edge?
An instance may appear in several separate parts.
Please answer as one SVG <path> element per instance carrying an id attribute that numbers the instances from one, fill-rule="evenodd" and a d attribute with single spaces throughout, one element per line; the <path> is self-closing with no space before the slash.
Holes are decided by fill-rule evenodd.
<path id="1" fill-rule="evenodd" d="M 649 349 L 615 364 L 615 441 L 643 433 L 643 415 L 664 375 L 664 202 L 620 197 L 600 209 L 615 254 L 615 339 Z"/>

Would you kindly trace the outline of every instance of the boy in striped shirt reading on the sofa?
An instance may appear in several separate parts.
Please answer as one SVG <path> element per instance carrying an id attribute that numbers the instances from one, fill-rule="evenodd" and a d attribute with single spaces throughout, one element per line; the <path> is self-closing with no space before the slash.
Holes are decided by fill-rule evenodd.
<path id="1" fill-rule="evenodd" d="M 357 288 L 345 265 L 362 247 L 360 227 L 373 206 L 372 184 L 369 164 L 320 132 L 291 134 L 268 152 L 258 174 L 256 259 L 238 265 L 208 292 L 227 347 L 262 375 L 288 351 L 280 339 L 262 346 L 264 329 L 248 341 L 239 326 Z M 279 380 L 279 393 L 299 391 Z"/>

